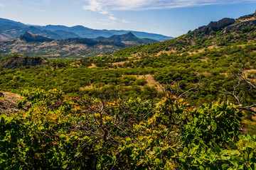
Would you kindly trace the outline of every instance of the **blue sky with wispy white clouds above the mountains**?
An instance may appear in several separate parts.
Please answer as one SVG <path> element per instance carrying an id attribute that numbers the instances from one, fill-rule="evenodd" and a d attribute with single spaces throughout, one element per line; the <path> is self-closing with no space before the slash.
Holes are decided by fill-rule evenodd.
<path id="1" fill-rule="evenodd" d="M 137 30 L 178 37 L 256 10 L 256 0 L 0 0 L 0 18 L 46 26 Z"/>

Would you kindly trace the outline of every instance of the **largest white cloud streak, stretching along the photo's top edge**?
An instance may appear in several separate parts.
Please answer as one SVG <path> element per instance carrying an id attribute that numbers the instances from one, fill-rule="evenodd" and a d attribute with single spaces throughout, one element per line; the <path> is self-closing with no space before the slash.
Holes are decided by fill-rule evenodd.
<path id="1" fill-rule="evenodd" d="M 134 11 L 160 8 L 181 8 L 189 6 L 205 6 L 211 4 L 234 4 L 242 1 L 256 0 L 83 0 L 87 5 L 85 10 L 99 13 L 111 11 Z"/>

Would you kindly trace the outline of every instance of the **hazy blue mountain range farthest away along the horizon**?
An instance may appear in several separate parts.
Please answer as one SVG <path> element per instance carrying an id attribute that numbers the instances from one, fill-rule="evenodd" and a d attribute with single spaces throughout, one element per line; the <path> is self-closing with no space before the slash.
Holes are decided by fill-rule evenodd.
<path id="1" fill-rule="evenodd" d="M 26 32 L 46 36 L 48 38 L 53 38 L 54 40 L 68 38 L 97 38 L 100 36 L 109 38 L 112 35 L 122 35 L 129 32 L 132 32 L 138 38 L 149 38 L 158 41 L 172 39 L 172 37 L 164 35 L 130 30 L 95 30 L 84 26 L 30 26 L 20 22 L 0 18 L 0 40 L 17 38 Z"/>

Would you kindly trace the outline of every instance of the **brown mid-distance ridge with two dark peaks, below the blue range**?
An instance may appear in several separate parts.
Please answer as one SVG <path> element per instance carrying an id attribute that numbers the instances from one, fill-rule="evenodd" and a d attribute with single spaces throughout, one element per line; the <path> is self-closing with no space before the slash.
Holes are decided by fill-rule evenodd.
<path id="1" fill-rule="evenodd" d="M 26 32 L 18 38 L 0 41 L 0 53 L 1 55 L 18 54 L 51 58 L 95 57 L 108 55 L 124 47 L 141 45 L 142 42 L 155 42 L 155 40 L 140 39 L 132 33 L 114 35 L 104 40 L 90 38 L 53 40 Z"/>

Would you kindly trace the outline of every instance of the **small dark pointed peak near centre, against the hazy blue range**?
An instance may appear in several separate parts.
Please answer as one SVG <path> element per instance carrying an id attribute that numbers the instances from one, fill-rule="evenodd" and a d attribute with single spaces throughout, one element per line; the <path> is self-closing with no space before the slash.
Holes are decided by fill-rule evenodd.
<path id="1" fill-rule="evenodd" d="M 125 44 L 134 44 L 134 45 L 140 45 L 140 44 L 151 44 L 154 42 L 159 42 L 157 40 L 151 40 L 149 38 L 137 38 L 133 33 L 129 32 L 124 35 L 112 35 L 110 38 L 104 38 L 104 37 L 98 37 L 95 38 L 95 40 L 103 40 L 103 41 L 121 41 Z"/>

